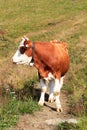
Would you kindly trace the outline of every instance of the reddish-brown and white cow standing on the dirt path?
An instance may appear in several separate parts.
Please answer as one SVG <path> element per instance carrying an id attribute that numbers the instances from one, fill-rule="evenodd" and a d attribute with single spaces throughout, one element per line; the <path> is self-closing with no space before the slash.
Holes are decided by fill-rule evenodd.
<path id="1" fill-rule="evenodd" d="M 55 101 L 56 111 L 61 112 L 60 90 L 64 75 L 70 65 L 68 44 L 57 40 L 32 42 L 27 37 L 23 37 L 12 61 L 15 64 L 30 65 L 37 68 L 41 85 L 41 96 L 38 104 L 44 105 L 47 90 L 46 82 L 48 82 L 49 102 Z"/>

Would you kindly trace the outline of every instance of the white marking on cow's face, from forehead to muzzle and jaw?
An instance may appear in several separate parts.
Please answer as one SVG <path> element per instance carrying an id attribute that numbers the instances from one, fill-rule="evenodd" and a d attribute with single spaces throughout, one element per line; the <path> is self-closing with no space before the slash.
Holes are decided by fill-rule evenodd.
<path id="1" fill-rule="evenodd" d="M 21 52 L 20 52 L 20 47 L 24 46 L 25 40 L 26 39 L 22 38 L 22 41 L 20 42 L 18 50 L 16 51 L 16 53 L 14 54 L 14 56 L 12 58 L 13 63 L 29 65 L 29 63 L 31 62 L 32 57 L 28 57 L 27 55 L 21 54 Z"/>

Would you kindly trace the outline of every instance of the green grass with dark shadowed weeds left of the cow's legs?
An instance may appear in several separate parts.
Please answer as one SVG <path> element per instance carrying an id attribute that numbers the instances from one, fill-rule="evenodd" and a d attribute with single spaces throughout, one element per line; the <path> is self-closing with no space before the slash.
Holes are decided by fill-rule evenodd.
<path id="1" fill-rule="evenodd" d="M 31 91 L 35 80 L 28 81 L 24 90 L 15 91 L 13 88 L 2 88 L 2 104 L 0 104 L 0 130 L 15 126 L 19 115 L 33 114 L 41 110 Z M 22 91 L 22 93 L 21 93 Z"/>

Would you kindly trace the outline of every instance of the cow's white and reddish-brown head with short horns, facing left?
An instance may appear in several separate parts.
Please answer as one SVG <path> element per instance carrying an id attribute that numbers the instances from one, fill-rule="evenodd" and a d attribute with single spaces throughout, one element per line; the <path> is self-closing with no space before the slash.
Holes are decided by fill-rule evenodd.
<path id="1" fill-rule="evenodd" d="M 13 63 L 29 65 L 32 60 L 32 48 L 28 43 L 30 43 L 29 39 L 27 37 L 23 37 L 16 53 L 12 58 Z"/>

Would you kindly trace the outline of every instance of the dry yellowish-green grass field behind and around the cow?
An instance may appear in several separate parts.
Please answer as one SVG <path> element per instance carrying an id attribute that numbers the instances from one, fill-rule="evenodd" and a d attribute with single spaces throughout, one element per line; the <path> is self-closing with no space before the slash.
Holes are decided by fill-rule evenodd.
<path id="1" fill-rule="evenodd" d="M 64 89 L 71 112 L 81 118 L 80 128 L 87 129 L 87 1 L 0 0 L 0 88 L 23 89 L 36 75 L 35 68 L 11 63 L 23 35 L 31 41 L 68 42 L 71 64 Z M 84 109 L 78 109 L 80 103 Z"/>

